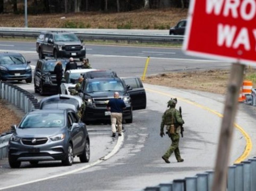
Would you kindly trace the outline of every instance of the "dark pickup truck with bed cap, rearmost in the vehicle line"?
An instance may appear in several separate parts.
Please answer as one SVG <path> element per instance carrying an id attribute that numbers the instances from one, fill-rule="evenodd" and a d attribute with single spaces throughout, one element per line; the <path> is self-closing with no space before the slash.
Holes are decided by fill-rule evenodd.
<path id="1" fill-rule="evenodd" d="M 46 31 L 41 32 L 36 41 L 36 52 L 39 59 L 45 56 L 54 58 L 79 58 L 86 57 L 86 48 L 83 41 L 71 32 Z"/>

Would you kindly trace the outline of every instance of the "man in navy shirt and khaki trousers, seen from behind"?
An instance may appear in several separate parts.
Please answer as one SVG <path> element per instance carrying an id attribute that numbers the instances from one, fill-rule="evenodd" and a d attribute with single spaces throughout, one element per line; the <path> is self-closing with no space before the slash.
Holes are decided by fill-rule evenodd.
<path id="1" fill-rule="evenodd" d="M 126 108 L 125 103 L 122 99 L 119 99 L 119 93 L 114 92 L 114 98 L 110 99 L 107 104 L 107 110 L 111 112 L 111 127 L 112 127 L 112 137 L 116 136 L 116 131 L 118 136 L 122 136 L 122 118 L 123 109 Z M 117 130 L 116 130 L 117 123 Z"/>

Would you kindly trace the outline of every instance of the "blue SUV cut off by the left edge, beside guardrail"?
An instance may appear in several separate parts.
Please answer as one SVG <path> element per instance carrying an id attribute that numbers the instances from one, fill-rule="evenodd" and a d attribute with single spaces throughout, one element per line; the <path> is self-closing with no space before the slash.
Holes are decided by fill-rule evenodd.
<path id="1" fill-rule="evenodd" d="M 0 80 L 26 80 L 32 82 L 32 70 L 20 53 L 0 53 Z"/>

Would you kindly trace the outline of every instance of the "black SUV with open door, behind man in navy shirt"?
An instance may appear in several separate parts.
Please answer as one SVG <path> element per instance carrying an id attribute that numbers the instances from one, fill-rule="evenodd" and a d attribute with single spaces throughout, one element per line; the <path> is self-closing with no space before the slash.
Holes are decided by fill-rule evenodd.
<path id="1" fill-rule="evenodd" d="M 91 71 L 81 85 L 81 93 L 86 103 L 83 114 L 83 122 L 95 120 L 110 120 L 110 112 L 107 111 L 107 102 L 114 97 L 114 92 L 119 92 L 120 99 L 126 104 L 123 110 L 123 120 L 126 123 L 133 122 L 133 110 L 146 108 L 146 92 L 139 77 L 116 77 L 115 72 L 106 73 L 100 77 L 97 73 L 102 71 Z M 104 73 L 104 72 L 103 72 Z M 114 76 L 114 77 L 113 77 Z"/>

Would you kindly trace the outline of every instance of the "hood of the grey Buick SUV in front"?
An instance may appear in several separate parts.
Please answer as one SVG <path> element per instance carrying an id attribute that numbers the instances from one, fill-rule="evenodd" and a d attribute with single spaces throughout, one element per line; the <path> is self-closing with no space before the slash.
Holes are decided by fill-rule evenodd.
<path id="1" fill-rule="evenodd" d="M 27 128 L 27 129 L 16 129 L 16 134 L 20 138 L 35 138 L 35 137 L 50 137 L 61 133 L 61 128 Z M 15 133 L 14 133 L 15 135 Z"/>

